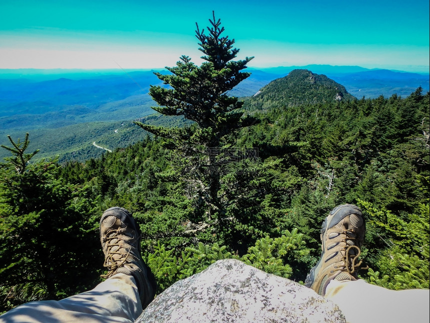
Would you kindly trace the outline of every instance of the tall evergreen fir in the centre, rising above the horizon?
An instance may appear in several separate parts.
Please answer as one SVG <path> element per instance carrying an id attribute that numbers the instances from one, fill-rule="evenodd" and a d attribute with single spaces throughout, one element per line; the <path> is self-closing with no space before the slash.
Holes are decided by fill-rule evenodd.
<path id="1" fill-rule="evenodd" d="M 220 166 L 226 138 L 235 130 L 256 122 L 244 117 L 240 108 L 243 102 L 230 97 L 233 89 L 250 73 L 241 72 L 252 57 L 232 61 L 239 52 L 233 48 L 234 39 L 222 36 L 224 28 L 220 20 L 209 20 L 208 34 L 196 24 L 196 38 L 201 58 L 206 62 L 196 66 L 187 56 L 180 57 L 175 67 L 167 68 L 171 74 L 155 75 L 169 87 L 151 86 L 149 94 L 158 103 L 153 109 L 163 115 L 183 116 L 193 121 L 185 128 L 167 128 L 136 122 L 144 130 L 171 139 L 173 147 L 183 152 L 179 163 L 186 165 L 182 174 L 192 182 L 192 190 L 200 216 L 214 219 L 223 213 L 218 197 L 220 189 Z M 225 147 L 225 146 L 223 146 Z M 217 214 L 217 215 L 216 215 Z M 198 217 L 200 217 L 198 216 Z"/>

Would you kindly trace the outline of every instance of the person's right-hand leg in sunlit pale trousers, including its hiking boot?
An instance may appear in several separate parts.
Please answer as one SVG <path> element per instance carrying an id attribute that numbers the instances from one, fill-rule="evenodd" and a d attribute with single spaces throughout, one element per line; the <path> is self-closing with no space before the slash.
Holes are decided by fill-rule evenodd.
<path id="1" fill-rule="evenodd" d="M 357 260 L 364 241 L 361 210 L 335 207 L 321 227 L 322 252 L 305 285 L 335 302 L 350 323 L 429 321 L 428 289 L 394 291 L 358 279 Z"/>

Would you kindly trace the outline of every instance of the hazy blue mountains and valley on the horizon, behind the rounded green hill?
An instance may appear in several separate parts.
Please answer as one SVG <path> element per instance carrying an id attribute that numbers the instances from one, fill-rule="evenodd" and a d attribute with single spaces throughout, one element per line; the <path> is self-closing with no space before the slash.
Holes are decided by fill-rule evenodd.
<path id="1" fill-rule="evenodd" d="M 418 86 L 424 92 L 429 90 L 428 74 L 368 70 L 358 66 L 309 65 L 248 68 L 246 71 L 251 72 L 251 76 L 230 91 L 230 95 L 252 96 L 269 82 L 286 76 L 294 69 L 324 74 L 357 98 L 389 97 L 394 93 L 405 97 Z M 76 151 L 76 145 L 80 150 L 96 149 L 90 147 L 94 140 L 110 143 L 113 134 L 121 132 L 121 129 L 125 131 L 127 127 L 127 131 L 131 129 L 132 120 L 154 113 L 150 108 L 155 103 L 148 95 L 149 85 L 162 83 L 153 72 L 0 70 L 0 144 L 8 143 L 7 134 L 23 138 L 25 132 L 30 132 L 30 140 L 34 139 L 39 145 L 33 148 L 43 146 L 44 155 L 41 151 L 39 156 L 47 157 L 57 151 L 55 145 L 69 147 L 67 149 L 72 152 Z M 110 137 L 106 139 L 106 136 Z M 52 143 L 52 149 L 47 149 L 56 139 L 58 142 Z M 130 143 L 132 141 L 130 139 Z M 71 145 L 72 142 L 76 145 Z M 4 153 L 1 149 L 0 158 Z"/>

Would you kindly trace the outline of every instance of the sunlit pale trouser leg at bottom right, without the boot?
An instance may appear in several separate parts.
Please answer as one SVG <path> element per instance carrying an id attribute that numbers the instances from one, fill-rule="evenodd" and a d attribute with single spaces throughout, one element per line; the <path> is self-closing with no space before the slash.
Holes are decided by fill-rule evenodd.
<path id="1" fill-rule="evenodd" d="M 350 323 L 428 323 L 428 289 L 390 290 L 367 283 L 331 280 L 324 297 L 335 302 Z"/>

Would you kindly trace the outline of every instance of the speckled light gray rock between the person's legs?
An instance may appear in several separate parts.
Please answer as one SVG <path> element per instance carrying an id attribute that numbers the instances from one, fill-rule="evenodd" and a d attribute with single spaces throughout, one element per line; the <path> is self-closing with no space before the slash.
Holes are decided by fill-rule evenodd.
<path id="1" fill-rule="evenodd" d="M 159 294 L 136 323 L 345 322 L 310 288 L 235 259 L 218 260 Z"/>

